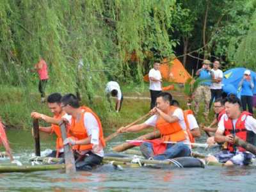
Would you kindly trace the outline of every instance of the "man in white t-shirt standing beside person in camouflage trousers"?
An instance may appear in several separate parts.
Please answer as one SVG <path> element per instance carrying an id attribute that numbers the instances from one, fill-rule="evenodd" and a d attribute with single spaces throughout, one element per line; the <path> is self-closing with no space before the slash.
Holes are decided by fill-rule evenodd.
<path id="1" fill-rule="evenodd" d="M 223 79 L 223 72 L 220 68 L 220 61 L 213 62 L 212 72 L 212 84 L 211 84 L 211 101 L 209 109 L 211 109 L 211 105 L 214 99 L 218 99 L 222 95 L 222 79 Z"/>

